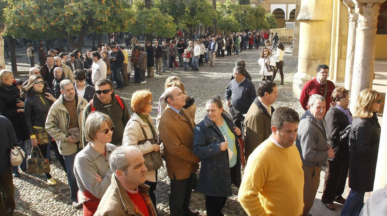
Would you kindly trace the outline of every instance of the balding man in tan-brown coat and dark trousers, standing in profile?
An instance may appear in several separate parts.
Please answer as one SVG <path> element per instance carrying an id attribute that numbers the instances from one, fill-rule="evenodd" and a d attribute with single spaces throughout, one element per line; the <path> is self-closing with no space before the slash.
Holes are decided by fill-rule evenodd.
<path id="1" fill-rule="evenodd" d="M 168 176 L 171 179 L 171 216 L 194 216 L 197 210 L 190 210 L 190 199 L 194 175 L 199 168 L 200 158 L 194 155 L 195 122 L 183 109 L 185 95 L 178 87 L 169 87 L 164 92 L 168 104 L 161 115 L 159 132 L 164 144 Z"/>

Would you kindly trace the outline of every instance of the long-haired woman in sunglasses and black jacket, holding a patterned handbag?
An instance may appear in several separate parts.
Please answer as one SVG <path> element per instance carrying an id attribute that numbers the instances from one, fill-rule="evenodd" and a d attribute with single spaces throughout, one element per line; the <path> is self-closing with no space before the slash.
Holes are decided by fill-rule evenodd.
<path id="1" fill-rule="evenodd" d="M 21 93 L 21 97 L 26 98 L 26 102 L 24 102 L 24 113 L 27 129 L 31 138 L 31 145 L 39 147 L 43 158 L 46 158 L 47 148 L 49 147 L 48 143 L 51 143 L 55 152 L 59 155 L 59 162 L 63 170 L 67 172 L 64 159 L 59 154 L 57 143 L 48 135 L 45 128 L 48 111 L 56 100 L 53 96 L 54 94 L 47 87 L 47 83 L 41 75 L 32 75 L 27 85 L 22 87 L 22 90 L 24 91 Z M 39 153 L 37 155 L 40 157 Z M 50 173 L 45 173 L 45 175 L 49 185 L 57 184 Z"/>

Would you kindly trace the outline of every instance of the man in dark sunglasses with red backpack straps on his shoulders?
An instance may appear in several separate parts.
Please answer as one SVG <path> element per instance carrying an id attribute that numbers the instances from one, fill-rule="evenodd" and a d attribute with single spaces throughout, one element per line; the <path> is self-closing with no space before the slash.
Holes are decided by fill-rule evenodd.
<path id="1" fill-rule="evenodd" d="M 92 111 L 102 112 L 108 115 L 113 121 L 115 129 L 111 137 L 111 144 L 115 146 L 122 145 L 123 132 L 125 126 L 130 119 L 130 114 L 128 107 L 121 97 L 115 94 L 113 90 L 113 83 L 108 79 L 98 80 L 94 88 L 96 94 L 94 94 L 93 99 L 86 105 L 85 111 L 82 117 L 82 129 L 84 128 L 86 118 Z M 86 139 L 82 136 L 84 142 Z M 87 143 L 84 143 L 85 145 Z"/>

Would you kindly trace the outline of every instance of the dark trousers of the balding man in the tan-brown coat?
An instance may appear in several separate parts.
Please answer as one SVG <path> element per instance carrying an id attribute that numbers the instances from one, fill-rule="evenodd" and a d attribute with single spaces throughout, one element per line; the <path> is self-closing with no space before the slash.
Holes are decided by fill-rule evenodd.
<path id="1" fill-rule="evenodd" d="M 183 216 L 185 213 L 190 212 L 189 206 L 194 175 L 195 173 L 191 173 L 188 179 L 171 179 L 171 195 L 169 197 L 171 216 Z M 176 176 L 174 178 L 176 179 Z"/>

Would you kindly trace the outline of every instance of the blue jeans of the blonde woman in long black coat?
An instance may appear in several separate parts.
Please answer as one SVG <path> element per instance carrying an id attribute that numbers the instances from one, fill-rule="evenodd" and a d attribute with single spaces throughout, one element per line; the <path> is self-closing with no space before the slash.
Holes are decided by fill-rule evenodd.
<path id="1" fill-rule="evenodd" d="M 347 200 L 341 210 L 341 216 L 356 216 L 360 213 L 361 208 L 364 205 L 364 194 L 365 192 L 358 192 L 351 189 Z"/>

